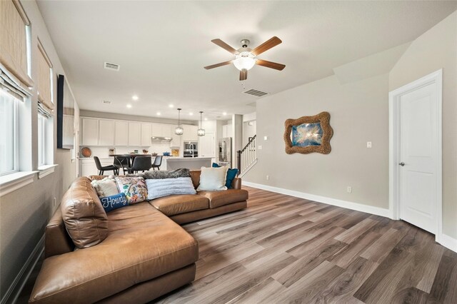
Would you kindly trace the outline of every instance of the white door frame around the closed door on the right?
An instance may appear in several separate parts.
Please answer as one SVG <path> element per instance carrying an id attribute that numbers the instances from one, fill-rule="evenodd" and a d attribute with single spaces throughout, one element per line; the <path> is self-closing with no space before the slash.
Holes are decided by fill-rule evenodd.
<path id="1" fill-rule="evenodd" d="M 400 219 L 400 198 L 399 198 L 399 167 L 400 161 L 400 103 L 398 102 L 403 94 L 414 91 L 423 86 L 435 83 L 437 87 L 436 123 L 438 124 L 436 146 L 436 235 L 437 243 L 441 241 L 443 233 L 443 146 L 442 146 L 442 103 L 443 103 L 443 69 L 439 69 L 427 76 L 401 86 L 388 93 L 389 108 L 389 211 L 393 220 Z"/>

